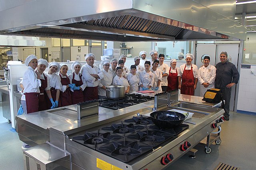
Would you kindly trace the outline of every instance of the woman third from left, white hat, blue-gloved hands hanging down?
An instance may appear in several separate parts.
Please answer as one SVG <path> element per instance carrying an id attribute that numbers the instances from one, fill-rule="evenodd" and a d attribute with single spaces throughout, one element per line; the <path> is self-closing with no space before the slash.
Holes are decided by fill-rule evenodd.
<path id="1" fill-rule="evenodd" d="M 52 95 L 52 100 L 55 102 L 55 107 L 61 107 L 61 104 L 59 104 L 61 82 L 60 82 L 60 76 L 57 74 L 59 71 L 60 71 L 60 64 L 57 62 L 52 62 L 52 63 L 49 63 L 48 65 L 48 71 L 44 72 L 50 78 L 50 82 L 49 82 L 50 92 Z M 48 109 L 50 109 L 51 106 L 52 104 L 50 100 L 47 100 Z"/>

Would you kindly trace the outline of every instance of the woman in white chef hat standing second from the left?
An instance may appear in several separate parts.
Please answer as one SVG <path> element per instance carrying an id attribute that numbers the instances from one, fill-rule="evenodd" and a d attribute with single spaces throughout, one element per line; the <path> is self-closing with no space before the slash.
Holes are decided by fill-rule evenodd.
<path id="1" fill-rule="evenodd" d="M 51 109 L 55 107 L 55 102 L 52 100 L 52 95 L 50 92 L 50 77 L 47 74 L 44 74 L 44 70 L 48 67 L 47 60 L 39 59 L 38 66 L 36 68 L 36 72 L 40 73 L 41 86 L 39 88 L 39 111 L 46 110 L 47 108 L 47 100 L 50 99 L 52 106 Z M 45 96 L 47 94 L 48 98 Z"/>

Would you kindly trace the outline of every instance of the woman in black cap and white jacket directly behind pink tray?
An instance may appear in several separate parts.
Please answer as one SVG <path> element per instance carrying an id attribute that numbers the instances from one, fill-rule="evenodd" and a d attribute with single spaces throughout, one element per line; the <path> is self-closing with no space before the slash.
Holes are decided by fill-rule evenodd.
<path id="1" fill-rule="evenodd" d="M 151 90 L 154 84 L 154 74 L 150 71 L 150 61 L 145 61 L 145 70 L 140 72 L 140 91 Z"/>

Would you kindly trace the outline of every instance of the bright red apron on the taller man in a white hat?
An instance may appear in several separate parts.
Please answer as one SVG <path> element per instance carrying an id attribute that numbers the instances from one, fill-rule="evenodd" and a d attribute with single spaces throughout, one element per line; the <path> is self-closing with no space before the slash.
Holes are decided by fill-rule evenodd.
<path id="1" fill-rule="evenodd" d="M 184 68 L 183 74 L 182 74 L 182 81 L 181 81 L 181 90 L 180 94 L 187 94 L 194 96 L 194 84 L 195 84 L 195 78 L 193 74 L 193 67 L 191 65 L 191 70 L 186 70 L 186 66 Z"/>

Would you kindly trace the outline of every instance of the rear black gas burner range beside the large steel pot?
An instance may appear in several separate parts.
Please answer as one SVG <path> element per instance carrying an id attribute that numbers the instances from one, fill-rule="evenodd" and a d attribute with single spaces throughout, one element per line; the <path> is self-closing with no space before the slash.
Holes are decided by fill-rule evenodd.
<path id="1" fill-rule="evenodd" d="M 154 97 L 144 96 L 141 94 L 125 94 L 124 98 L 122 99 L 100 99 L 99 106 L 117 110 L 150 100 L 154 100 Z"/>

